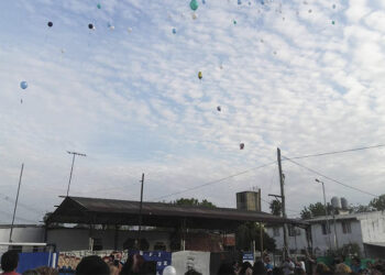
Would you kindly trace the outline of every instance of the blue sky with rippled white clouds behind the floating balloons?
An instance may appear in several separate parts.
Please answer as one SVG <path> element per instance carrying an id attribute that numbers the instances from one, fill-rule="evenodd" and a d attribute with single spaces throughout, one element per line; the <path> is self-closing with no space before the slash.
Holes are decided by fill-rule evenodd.
<path id="1" fill-rule="evenodd" d="M 277 147 L 295 157 L 385 143 L 384 1 L 204 2 L 1 1 L 1 223 L 22 163 L 16 222 L 61 204 L 67 151 L 87 154 L 72 196 L 138 200 L 144 173 L 146 201 L 235 207 L 235 193 L 261 188 L 268 211 Z M 384 150 L 296 162 L 381 195 Z M 289 217 L 322 200 L 315 178 L 328 200 L 373 199 L 288 161 L 283 170 Z"/>

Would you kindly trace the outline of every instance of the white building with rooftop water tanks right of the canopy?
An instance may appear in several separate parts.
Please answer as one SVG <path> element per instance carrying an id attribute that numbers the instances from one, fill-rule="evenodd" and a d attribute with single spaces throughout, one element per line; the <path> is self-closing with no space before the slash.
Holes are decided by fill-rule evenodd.
<path id="1" fill-rule="evenodd" d="M 324 216 L 317 217 L 310 223 L 311 242 L 309 243 L 316 255 L 323 255 L 329 249 L 336 250 L 348 244 L 358 244 L 365 256 L 385 255 L 385 212 L 364 212 L 337 215 L 334 220 L 328 217 L 330 230 L 327 230 Z M 336 228 L 336 230 L 334 230 Z M 282 228 L 266 228 L 267 234 L 275 239 L 277 249 L 283 248 L 284 237 Z M 289 230 L 290 231 L 290 230 Z M 306 230 L 295 229 L 296 234 L 289 232 L 290 251 L 308 248 Z M 336 233 L 334 233 L 336 232 Z"/>

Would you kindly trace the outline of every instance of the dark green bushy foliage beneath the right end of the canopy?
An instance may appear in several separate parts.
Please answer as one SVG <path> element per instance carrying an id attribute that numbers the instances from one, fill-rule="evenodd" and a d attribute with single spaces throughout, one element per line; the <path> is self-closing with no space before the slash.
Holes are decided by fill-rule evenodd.
<path id="1" fill-rule="evenodd" d="M 271 238 L 263 230 L 263 249 L 267 251 L 275 251 L 275 240 Z M 251 251 L 251 242 L 255 241 L 255 249 L 258 250 L 261 248 L 261 226 L 256 222 L 245 222 L 240 226 L 235 232 L 235 245 L 238 250 Z"/>

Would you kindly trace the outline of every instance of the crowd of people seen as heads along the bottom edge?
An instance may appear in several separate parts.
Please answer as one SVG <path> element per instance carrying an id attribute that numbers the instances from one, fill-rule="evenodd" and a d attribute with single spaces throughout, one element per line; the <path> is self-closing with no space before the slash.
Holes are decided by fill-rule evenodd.
<path id="1" fill-rule="evenodd" d="M 1 257 L 1 275 L 20 275 L 16 273 L 19 254 L 14 251 L 6 252 Z M 77 265 L 76 275 L 153 275 L 155 270 L 150 262 L 145 262 L 139 254 L 130 255 L 123 264 L 116 261 L 113 255 L 99 257 L 97 255 L 81 258 Z M 198 275 L 199 273 L 186 273 Z M 353 258 L 350 265 L 343 263 L 342 258 L 336 258 L 331 265 L 317 263 L 311 257 L 294 260 L 286 258 L 280 266 L 273 266 L 268 255 L 255 261 L 254 265 L 244 263 L 224 263 L 220 266 L 218 275 L 331 275 L 331 274 L 366 274 L 385 275 L 385 262 L 366 262 L 363 265 L 360 258 Z M 59 275 L 55 268 L 41 266 L 28 270 L 22 275 Z"/>

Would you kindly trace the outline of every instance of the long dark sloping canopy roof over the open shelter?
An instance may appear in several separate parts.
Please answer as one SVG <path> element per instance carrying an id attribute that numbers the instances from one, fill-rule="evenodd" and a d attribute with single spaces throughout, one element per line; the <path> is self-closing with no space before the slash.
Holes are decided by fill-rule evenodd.
<path id="1" fill-rule="evenodd" d="M 139 209 L 139 201 L 66 197 L 47 222 L 138 226 Z M 142 224 L 147 227 L 175 228 L 185 222 L 187 228 L 234 230 L 245 221 L 307 226 L 304 221 L 233 208 L 143 202 L 142 209 Z"/>

